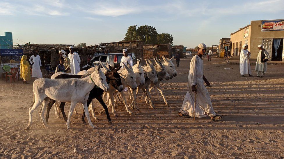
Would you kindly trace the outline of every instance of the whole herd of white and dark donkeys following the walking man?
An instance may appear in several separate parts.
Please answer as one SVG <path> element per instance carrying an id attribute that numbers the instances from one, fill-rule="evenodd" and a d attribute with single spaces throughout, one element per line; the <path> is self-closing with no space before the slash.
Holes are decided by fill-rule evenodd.
<path id="1" fill-rule="evenodd" d="M 112 113 L 117 116 L 115 108 L 120 99 L 122 99 L 125 109 L 129 114 L 132 114 L 129 108 L 139 110 L 136 105 L 136 96 L 140 89 L 143 91 L 141 99 L 143 99 L 145 94 L 145 102 L 148 103 L 149 100 L 151 108 L 154 108 L 150 95 L 150 91 L 153 88 L 158 95 L 158 99 L 161 101 L 159 97 L 160 92 L 164 102 L 168 105 L 164 92 L 160 87 L 160 81 L 169 80 L 177 76 L 177 71 L 172 62 L 173 58 L 168 59 L 163 57 L 162 62 L 156 57 L 154 58 L 155 63 L 146 60 L 146 65 L 143 67 L 141 66 L 142 59 L 138 59 L 136 65 L 132 67 L 129 63 L 127 65 L 123 64 L 123 69 L 121 69 L 121 66 L 113 68 L 107 63 L 106 65 L 100 63 L 98 66 L 92 67 L 87 71 L 81 71 L 78 74 L 57 72 L 52 75 L 51 79 L 39 78 L 33 83 L 33 104 L 29 108 L 27 129 L 31 127 L 33 111 L 40 105 L 39 114 L 44 127 L 47 127 L 46 122 L 48 122 L 49 111 L 52 105 L 54 105 L 56 116 L 61 118 L 60 113 L 62 113 L 67 129 L 70 129 L 70 118 L 73 112 L 77 114 L 77 103 L 83 105 L 84 113 L 81 118 L 82 122 L 86 123 L 86 116 L 90 127 L 95 128 L 89 116 L 90 110 L 95 120 L 98 119 L 95 116 L 95 107 L 92 101 L 95 98 L 103 106 L 103 111 L 105 111 L 109 122 L 111 122 L 111 118 L 108 107 L 111 106 Z M 126 103 L 123 91 L 126 87 L 128 88 L 128 98 L 132 99 L 129 105 Z M 61 102 L 60 105 L 58 102 Z M 64 112 L 65 102 L 71 102 L 68 118 Z M 46 108 L 47 114 L 44 118 Z"/>

